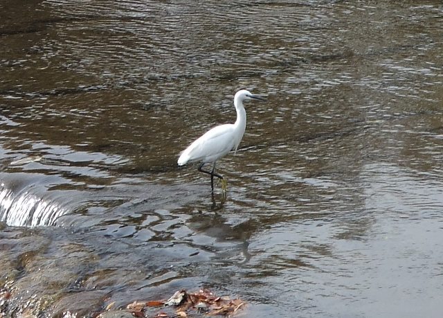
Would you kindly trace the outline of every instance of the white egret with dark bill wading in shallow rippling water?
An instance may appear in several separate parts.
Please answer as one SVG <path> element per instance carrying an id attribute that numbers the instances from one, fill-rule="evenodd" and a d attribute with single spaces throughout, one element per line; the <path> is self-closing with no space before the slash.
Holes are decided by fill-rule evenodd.
<path id="1" fill-rule="evenodd" d="M 188 162 L 202 161 L 199 171 L 210 175 L 210 187 L 214 193 L 214 176 L 223 179 L 221 175 L 215 173 L 215 163 L 221 157 L 224 157 L 230 150 L 237 151 L 238 145 L 242 140 L 244 130 L 246 129 L 246 110 L 243 106 L 244 100 L 265 100 L 264 98 L 251 94 L 250 91 L 242 89 L 237 91 L 234 96 L 234 106 L 237 112 L 237 120 L 233 124 L 224 124 L 214 127 L 190 144 L 186 150 L 181 152 L 177 163 L 179 166 L 188 164 Z M 203 170 L 203 166 L 213 163 L 212 170 Z"/>

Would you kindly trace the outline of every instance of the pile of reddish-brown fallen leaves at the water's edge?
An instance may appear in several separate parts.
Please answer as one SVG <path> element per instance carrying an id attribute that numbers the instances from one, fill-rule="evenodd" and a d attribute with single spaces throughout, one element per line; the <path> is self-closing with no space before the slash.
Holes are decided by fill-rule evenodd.
<path id="1" fill-rule="evenodd" d="M 195 315 L 231 317 L 244 306 L 246 303 L 241 299 L 218 297 L 210 290 L 203 289 L 198 292 L 178 290 L 166 301 L 134 301 L 127 306 L 127 310 L 135 317 L 147 317 L 147 312 L 149 317 L 156 318 L 190 318 Z"/>

